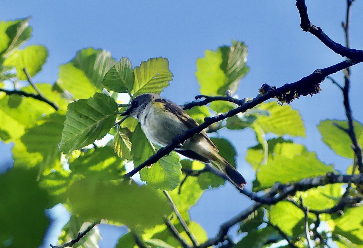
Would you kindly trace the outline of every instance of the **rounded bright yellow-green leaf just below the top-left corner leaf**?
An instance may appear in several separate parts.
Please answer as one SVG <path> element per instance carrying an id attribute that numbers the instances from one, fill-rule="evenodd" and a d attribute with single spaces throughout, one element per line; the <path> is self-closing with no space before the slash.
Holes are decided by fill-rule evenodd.
<path id="1" fill-rule="evenodd" d="M 20 80 L 26 80 L 27 77 L 23 71 L 26 68 L 30 76 L 36 75 L 42 70 L 43 64 L 48 58 L 48 50 L 42 45 L 32 45 L 25 47 L 24 50 L 13 52 L 4 61 L 4 66 L 14 66 Z"/>

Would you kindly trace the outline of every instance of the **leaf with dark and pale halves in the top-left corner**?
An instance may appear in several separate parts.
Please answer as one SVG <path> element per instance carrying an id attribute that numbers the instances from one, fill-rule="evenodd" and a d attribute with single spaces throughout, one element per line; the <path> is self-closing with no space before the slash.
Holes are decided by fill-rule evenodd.
<path id="1" fill-rule="evenodd" d="M 30 38 L 32 28 L 29 18 L 16 21 L 0 21 L 0 57 L 10 54 Z"/>

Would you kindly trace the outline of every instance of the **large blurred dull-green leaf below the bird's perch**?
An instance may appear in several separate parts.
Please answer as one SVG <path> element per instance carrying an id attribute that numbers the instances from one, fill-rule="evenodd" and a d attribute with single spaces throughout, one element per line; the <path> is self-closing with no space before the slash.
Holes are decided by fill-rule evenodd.
<path id="1" fill-rule="evenodd" d="M 162 224 L 163 216 L 172 211 L 159 191 L 126 181 L 110 183 L 86 177 L 70 185 L 67 195 L 74 214 L 89 219 L 113 220 L 131 229 Z"/>

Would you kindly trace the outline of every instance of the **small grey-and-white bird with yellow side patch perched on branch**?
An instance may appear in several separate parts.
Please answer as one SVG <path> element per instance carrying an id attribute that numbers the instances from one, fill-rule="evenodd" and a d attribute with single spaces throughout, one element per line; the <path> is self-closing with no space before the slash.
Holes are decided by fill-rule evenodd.
<path id="1" fill-rule="evenodd" d="M 179 105 L 154 93 L 135 97 L 121 115 L 131 115 L 138 119 L 146 138 L 162 147 L 172 143 L 173 138 L 184 134 L 188 129 L 199 126 Z M 219 155 L 218 148 L 204 130 L 187 139 L 175 151 L 202 163 L 212 161 L 240 189 L 246 184 L 245 178 Z"/>

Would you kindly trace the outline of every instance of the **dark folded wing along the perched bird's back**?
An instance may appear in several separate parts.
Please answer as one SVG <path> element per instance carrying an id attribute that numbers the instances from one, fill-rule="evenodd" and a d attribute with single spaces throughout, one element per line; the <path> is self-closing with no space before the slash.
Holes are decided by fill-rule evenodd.
<path id="1" fill-rule="evenodd" d="M 192 129 L 193 127 L 199 126 L 199 124 L 192 119 L 187 112 L 184 111 L 179 105 L 176 105 L 174 102 L 160 98 L 156 99 L 155 102 L 160 102 L 164 104 L 164 107 L 166 110 L 168 110 L 170 113 L 174 114 L 176 117 L 180 119 L 187 127 L 188 129 Z M 200 134 L 208 141 L 209 144 L 218 152 L 218 148 L 215 146 L 215 144 L 212 142 L 212 140 L 208 137 L 207 133 L 202 130 Z"/>

